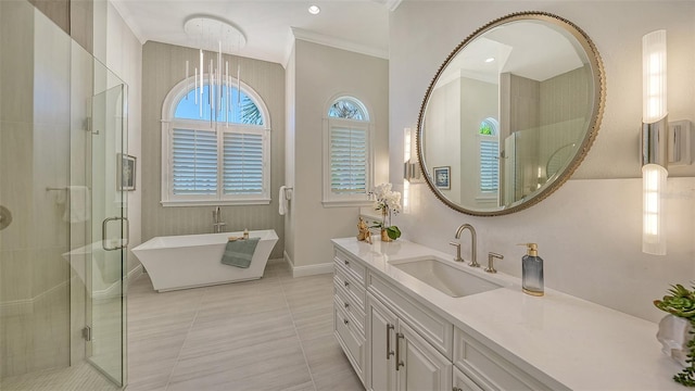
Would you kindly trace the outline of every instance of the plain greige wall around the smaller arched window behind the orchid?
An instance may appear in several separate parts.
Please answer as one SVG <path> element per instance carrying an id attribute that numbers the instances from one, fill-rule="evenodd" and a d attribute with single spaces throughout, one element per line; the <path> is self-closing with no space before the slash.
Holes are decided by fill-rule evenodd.
<path id="1" fill-rule="evenodd" d="M 332 263 L 331 238 L 353 236 L 357 229 L 358 207 L 321 204 L 323 131 L 328 105 L 336 94 L 345 93 L 368 106 L 375 131 L 375 184 L 387 181 L 389 62 L 305 40 L 295 40 L 292 59 L 288 70 L 294 73 L 288 78 L 294 78 L 294 105 L 288 111 L 295 122 L 290 141 L 294 147 L 290 174 L 294 195 L 289 229 L 294 242 L 288 247 L 288 256 L 295 267 L 311 270 L 312 266 Z"/>

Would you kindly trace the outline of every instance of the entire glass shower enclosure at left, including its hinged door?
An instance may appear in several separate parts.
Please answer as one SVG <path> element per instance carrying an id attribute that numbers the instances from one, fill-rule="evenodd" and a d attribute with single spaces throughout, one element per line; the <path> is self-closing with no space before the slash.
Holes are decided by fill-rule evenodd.
<path id="1" fill-rule="evenodd" d="M 0 390 L 126 378 L 127 86 L 0 1 Z"/>

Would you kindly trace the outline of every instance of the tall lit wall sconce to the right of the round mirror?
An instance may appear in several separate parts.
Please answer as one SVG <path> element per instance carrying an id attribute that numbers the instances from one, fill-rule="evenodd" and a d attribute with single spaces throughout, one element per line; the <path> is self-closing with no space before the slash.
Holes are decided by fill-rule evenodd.
<path id="1" fill-rule="evenodd" d="M 666 30 L 642 37 L 642 251 L 666 255 L 661 192 L 668 178 Z"/>

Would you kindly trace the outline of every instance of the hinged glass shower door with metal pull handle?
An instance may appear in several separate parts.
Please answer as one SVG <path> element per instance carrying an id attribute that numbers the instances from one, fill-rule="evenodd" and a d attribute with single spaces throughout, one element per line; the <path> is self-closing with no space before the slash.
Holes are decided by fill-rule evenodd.
<path id="1" fill-rule="evenodd" d="M 96 65 L 94 75 L 105 73 L 113 85 L 92 98 L 90 163 L 87 179 L 91 187 L 91 262 L 87 262 L 86 323 L 87 360 L 117 386 L 126 383 L 126 256 L 128 245 L 128 181 L 124 172 L 126 149 L 127 86 Z M 103 65 L 101 65 L 103 67 Z M 99 77 L 96 77 L 99 79 Z M 117 81 L 114 81 L 116 79 Z M 89 167 L 91 165 L 91 167 Z"/>

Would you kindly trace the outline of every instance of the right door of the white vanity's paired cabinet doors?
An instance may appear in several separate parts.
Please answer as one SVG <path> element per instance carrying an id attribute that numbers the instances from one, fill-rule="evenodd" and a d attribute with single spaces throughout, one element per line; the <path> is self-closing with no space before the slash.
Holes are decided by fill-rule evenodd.
<path id="1" fill-rule="evenodd" d="M 452 390 L 452 363 L 401 321 L 396 333 L 400 391 Z"/>

